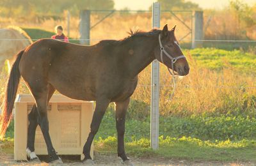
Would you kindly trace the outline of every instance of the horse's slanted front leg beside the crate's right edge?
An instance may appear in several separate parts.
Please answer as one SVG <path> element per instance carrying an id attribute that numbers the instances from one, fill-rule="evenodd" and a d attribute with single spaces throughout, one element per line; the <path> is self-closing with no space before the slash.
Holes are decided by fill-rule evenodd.
<path id="1" fill-rule="evenodd" d="M 92 141 L 93 141 L 94 136 L 96 135 L 96 133 L 99 130 L 100 122 L 106 112 L 106 109 L 108 108 L 109 103 L 110 103 L 110 100 L 108 100 L 106 98 L 101 98 L 96 101 L 95 111 L 93 113 L 92 123 L 90 126 L 91 131 L 88 135 L 88 138 L 87 138 L 86 143 L 84 144 L 84 148 L 83 148 L 83 154 L 84 154 L 83 163 L 87 163 L 87 164 L 93 163 L 92 157 L 90 156 Z"/>

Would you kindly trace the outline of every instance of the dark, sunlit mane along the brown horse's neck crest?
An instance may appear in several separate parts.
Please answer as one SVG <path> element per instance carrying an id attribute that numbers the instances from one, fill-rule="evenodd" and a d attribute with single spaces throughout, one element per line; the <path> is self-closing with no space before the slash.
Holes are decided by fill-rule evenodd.
<path id="1" fill-rule="evenodd" d="M 127 36 L 126 38 L 123 38 L 122 40 L 101 40 L 99 42 L 99 44 L 120 45 L 122 43 L 126 43 L 127 41 L 133 40 L 137 36 L 152 36 L 154 34 L 159 34 L 160 32 L 161 32 L 161 30 L 159 30 L 159 29 L 152 29 L 151 31 L 148 31 L 148 32 L 140 31 L 139 29 L 136 29 L 135 31 L 132 31 L 130 29 L 130 31 L 127 32 L 129 34 L 129 36 Z"/>

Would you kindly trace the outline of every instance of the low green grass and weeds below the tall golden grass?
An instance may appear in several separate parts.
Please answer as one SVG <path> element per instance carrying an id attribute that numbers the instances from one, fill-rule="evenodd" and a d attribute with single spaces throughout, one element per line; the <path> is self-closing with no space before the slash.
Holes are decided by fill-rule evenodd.
<path id="1" fill-rule="evenodd" d="M 154 151 L 150 148 L 149 117 L 129 118 L 125 123 L 125 150 L 141 158 L 255 163 L 255 125 L 255 119 L 247 117 L 160 117 L 159 149 Z M 246 132 L 250 135 L 247 139 Z M 116 154 L 116 146 L 114 112 L 108 110 L 95 138 L 95 151 Z"/>

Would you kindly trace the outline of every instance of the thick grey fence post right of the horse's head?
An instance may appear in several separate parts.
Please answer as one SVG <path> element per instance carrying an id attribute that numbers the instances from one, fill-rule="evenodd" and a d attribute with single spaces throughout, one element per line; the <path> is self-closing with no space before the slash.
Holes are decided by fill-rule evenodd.
<path id="1" fill-rule="evenodd" d="M 192 49 L 202 47 L 204 40 L 204 12 L 194 11 L 193 13 L 193 27 L 192 27 Z"/>

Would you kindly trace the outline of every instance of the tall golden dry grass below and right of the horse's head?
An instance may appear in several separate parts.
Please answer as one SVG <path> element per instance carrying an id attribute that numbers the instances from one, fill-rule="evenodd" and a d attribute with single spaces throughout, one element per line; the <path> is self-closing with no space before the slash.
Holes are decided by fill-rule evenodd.
<path id="1" fill-rule="evenodd" d="M 255 115 L 255 77 L 239 73 L 231 66 L 221 72 L 202 68 L 189 56 L 190 73 L 177 79 L 172 100 L 171 76 L 161 65 L 160 113 L 175 114 L 248 114 Z M 150 66 L 140 73 L 139 86 L 133 94 L 136 100 L 150 104 Z"/>

